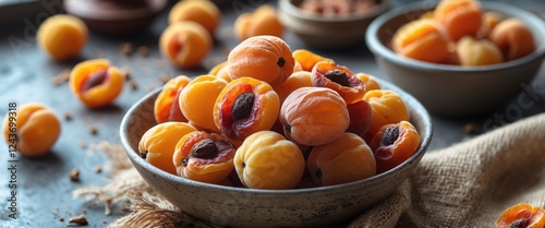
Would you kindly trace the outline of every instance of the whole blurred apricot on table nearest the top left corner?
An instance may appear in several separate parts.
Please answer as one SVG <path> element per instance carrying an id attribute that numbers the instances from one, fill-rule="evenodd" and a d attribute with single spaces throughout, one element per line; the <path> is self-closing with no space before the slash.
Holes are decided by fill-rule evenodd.
<path id="1" fill-rule="evenodd" d="M 57 14 L 44 21 L 36 34 L 38 46 L 52 59 L 66 61 L 80 55 L 88 39 L 85 23 L 73 15 Z"/>

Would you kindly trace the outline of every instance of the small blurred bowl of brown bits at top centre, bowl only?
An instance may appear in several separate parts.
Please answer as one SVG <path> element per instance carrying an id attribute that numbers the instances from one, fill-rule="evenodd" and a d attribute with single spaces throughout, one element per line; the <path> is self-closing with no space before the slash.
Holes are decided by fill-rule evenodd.
<path id="1" fill-rule="evenodd" d="M 362 44 L 367 25 L 391 7 L 390 0 L 362 13 L 343 17 L 325 17 L 303 12 L 298 5 L 302 0 L 278 1 L 278 17 L 283 26 L 307 45 L 317 48 L 340 48 Z"/>

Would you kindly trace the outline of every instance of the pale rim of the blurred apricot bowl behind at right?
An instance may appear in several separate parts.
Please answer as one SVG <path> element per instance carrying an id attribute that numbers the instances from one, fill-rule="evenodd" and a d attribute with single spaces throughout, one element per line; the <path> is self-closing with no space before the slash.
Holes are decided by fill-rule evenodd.
<path id="1" fill-rule="evenodd" d="M 537 15 L 522 10 L 518 7 L 500 3 L 500 2 L 491 2 L 491 1 L 481 1 L 480 2 L 485 10 L 494 10 L 499 13 L 507 13 L 511 15 L 516 15 L 516 17 L 531 23 L 532 26 L 529 26 L 533 34 L 541 34 L 540 37 L 545 37 L 545 23 Z M 403 65 L 407 68 L 415 68 L 421 69 L 423 71 L 434 71 L 434 72 L 465 72 L 465 73 L 479 73 L 479 72 L 493 72 L 493 71 L 504 71 L 506 69 L 510 69 L 517 65 L 523 65 L 535 61 L 536 59 L 543 59 L 545 57 L 545 43 L 537 44 L 536 49 L 516 60 L 507 61 L 499 64 L 491 64 L 491 65 L 480 65 L 480 67 L 461 67 L 461 65 L 450 65 L 450 64 L 439 64 L 439 63 L 431 63 L 420 60 L 410 59 L 407 57 L 402 57 L 393 52 L 390 48 L 385 46 L 378 39 L 378 31 L 391 19 L 402 15 L 410 14 L 414 11 L 423 11 L 426 9 L 433 9 L 436 7 L 436 2 L 431 3 L 429 1 L 417 1 L 404 4 L 402 7 L 393 8 L 386 13 L 377 16 L 373 22 L 370 23 L 367 31 L 365 33 L 365 41 L 367 43 L 368 49 L 379 56 L 385 58 L 396 64 Z M 534 35 L 535 36 L 535 35 Z M 535 38 L 534 38 L 535 39 Z M 457 76 L 457 75 L 453 75 Z"/>

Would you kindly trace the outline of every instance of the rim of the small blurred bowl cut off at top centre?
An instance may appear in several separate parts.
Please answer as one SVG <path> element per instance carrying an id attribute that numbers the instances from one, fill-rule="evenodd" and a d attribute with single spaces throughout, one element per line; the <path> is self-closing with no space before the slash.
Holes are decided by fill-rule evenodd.
<path id="1" fill-rule="evenodd" d="M 380 13 L 391 8 L 391 0 L 379 0 L 379 1 L 380 1 L 379 3 L 373 5 L 366 11 L 351 13 L 348 16 L 332 16 L 332 17 L 320 16 L 320 14 L 317 13 L 305 13 L 293 3 L 293 0 L 280 0 L 278 2 L 278 7 L 279 9 L 282 9 L 286 13 L 300 20 L 315 21 L 320 23 L 339 23 L 339 22 L 351 22 L 351 21 L 359 21 L 362 19 L 376 17 Z"/>

